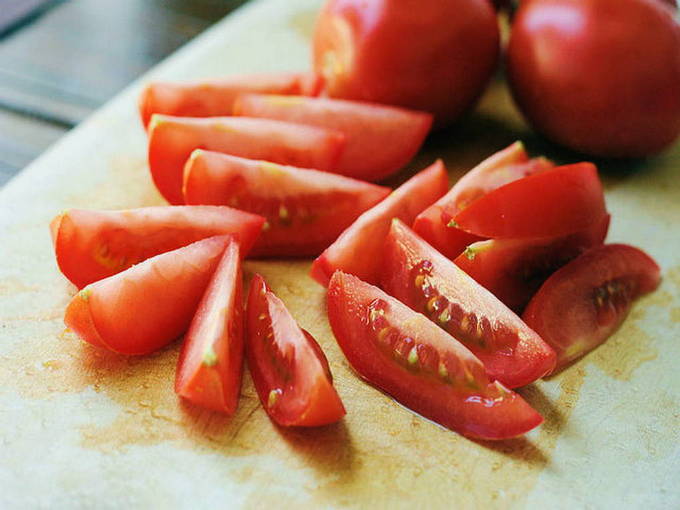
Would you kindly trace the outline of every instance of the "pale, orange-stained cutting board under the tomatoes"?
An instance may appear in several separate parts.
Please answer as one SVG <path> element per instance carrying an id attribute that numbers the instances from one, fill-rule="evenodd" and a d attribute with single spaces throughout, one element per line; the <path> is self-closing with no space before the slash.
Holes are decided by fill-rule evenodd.
<path id="1" fill-rule="evenodd" d="M 304 69 L 319 5 L 253 2 L 141 82 Z M 319 340 L 347 407 L 336 425 L 284 430 L 247 375 L 238 412 L 223 417 L 176 398 L 178 344 L 127 358 L 64 329 L 75 289 L 55 265 L 50 219 L 162 203 L 136 114 L 141 82 L 0 190 L 0 507 L 680 506 L 680 144 L 601 165 L 610 240 L 649 251 L 663 283 L 605 345 L 521 390 L 545 416 L 521 439 L 470 441 L 364 384 L 335 343 L 310 261 L 246 262 Z M 579 159 L 533 135 L 498 79 L 391 184 L 438 156 L 453 181 L 516 139 L 535 155 Z"/>

